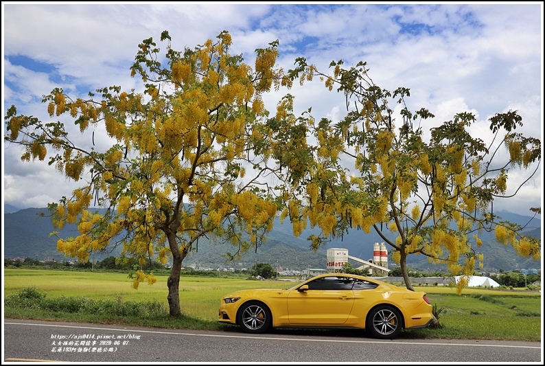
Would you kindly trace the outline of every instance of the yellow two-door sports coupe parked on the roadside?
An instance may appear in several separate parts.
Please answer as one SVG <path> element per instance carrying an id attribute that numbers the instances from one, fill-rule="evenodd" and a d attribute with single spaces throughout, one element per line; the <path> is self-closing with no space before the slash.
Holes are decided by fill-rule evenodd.
<path id="1" fill-rule="evenodd" d="M 426 328 L 433 321 L 426 293 L 345 273 L 317 275 L 287 290 L 256 289 L 221 300 L 222 323 L 244 332 L 270 328 L 362 328 L 379 339 L 402 329 Z"/>

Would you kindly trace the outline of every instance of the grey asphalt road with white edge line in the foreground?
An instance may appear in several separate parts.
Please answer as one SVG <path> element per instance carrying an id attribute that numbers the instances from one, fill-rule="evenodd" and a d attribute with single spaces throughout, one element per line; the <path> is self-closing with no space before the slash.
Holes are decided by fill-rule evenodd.
<path id="1" fill-rule="evenodd" d="M 3 364 L 86 363 L 535 363 L 542 343 L 399 339 L 364 332 L 170 330 L 19 319 L 3 321 Z"/>

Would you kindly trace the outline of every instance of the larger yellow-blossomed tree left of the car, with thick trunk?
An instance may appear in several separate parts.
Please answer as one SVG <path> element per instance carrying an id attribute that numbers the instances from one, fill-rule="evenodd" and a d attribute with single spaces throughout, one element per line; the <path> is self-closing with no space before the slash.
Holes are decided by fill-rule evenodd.
<path id="1" fill-rule="evenodd" d="M 107 150 L 76 146 L 65 123 L 18 115 L 15 106 L 5 117 L 5 141 L 23 146 L 23 161 L 49 157 L 69 179 L 84 182 L 49 205 L 56 227 L 78 225 L 79 235 L 60 238 L 58 250 L 86 261 L 92 251 L 121 245 L 140 264 L 172 258 L 167 299 L 176 316 L 182 261 L 200 238 L 230 242 L 234 258 L 257 248 L 272 228 L 277 203 L 265 176 L 275 174 L 275 164 L 255 151 L 270 150 L 262 95 L 289 80 L 275 67 L 277 41 L 256 50 L 254 68 L 229 54 L 227 31 L 183 52 L 171 47 L 168 32 L 161 41 L 164 56 L 152 38 L 139 45 L 130 70 L 141 78 L 141 92 L 113 86 L 83 99 L 54 89 L 43 98 L 50 119 L 93 131 L 93 143 L 94 131 L 105 129 Z M 155 281 L 137 271 L 134 286 L 146 279 Z"/>

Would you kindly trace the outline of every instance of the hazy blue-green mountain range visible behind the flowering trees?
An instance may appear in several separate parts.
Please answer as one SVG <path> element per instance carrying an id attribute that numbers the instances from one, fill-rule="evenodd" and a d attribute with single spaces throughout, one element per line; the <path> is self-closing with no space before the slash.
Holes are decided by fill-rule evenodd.
<path id="1" fill-rule="evenodd" d="M 69 260 L 62 253 L 56 251 L 56 238 L 49 236 L 54 231 L 51 220 L 40 216 L 47 216 L 47 208 L 30 208 L 16 210 L 12 213 L 4 207 L 4 258 L 32 258 L 38 260 L 55 259 L 57 261 Z M 541 238 L 541 220 L 529 216 L 520 216 L 508 211 L 497 213 L 502 220 L 509 220 L 519 225 L 529 225 L 524 229 L 526 235 Z M 373 244 L 383 240 L 375 231 L 366 234 L 360 230 L 352 230 L 342 239 L 332 240 L 327 247 L 314 252 L 310 249 L 306 240 L 311 234 L 318 234 L 317 229 L 305 229 L 301 236 L 293 236 L 292 227 L 288 220 L 275 227 L 268 233 L 266 244 L 256 249 L 251 249 L 242 255 L 237 262 L 226 262 L 224 253 L 234 252 L 235 249 L 228 244 L 214 244 L 210 240 L 199 240 L 198 246 L 184 260 L 186 266 L 197 265 L 200 268 L 235 267 L 249 268 L 257 262 L 269 263 L 272 266 L 301 270 L 304 268 L 325 268 L 325 253 L 328 248 L 348 249 L 349 255 L 362 260 L 373 258 Z M 76 225 L 67 225 L 60 231 L 60 236 L 76 236 Z M 541 268 L 540 261 L 520 258 L 510 246 L 503 246 L 494 238 L 494 233 L 482 233 L 483 246 L 478 251 L 485 255 L 485 271 L 513 271 L 518 268 Z M 389 252 L 389 247 L 386 247 Z M 95 260 L 102 260 L 116 253 L 95 253 Z M 408 264 L 411 268 L 421 271 L 443 271 L 439 266 L 432 266 L 423 255 L 411 255 Z M 391 267 L 395 264 L 391 264 Z"/>

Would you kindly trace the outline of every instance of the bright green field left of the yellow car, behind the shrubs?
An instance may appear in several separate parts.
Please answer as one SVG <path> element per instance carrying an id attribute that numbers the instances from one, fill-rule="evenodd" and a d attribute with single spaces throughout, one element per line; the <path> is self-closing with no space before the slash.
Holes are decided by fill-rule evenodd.
<path id="1" fill-rule="evenodd" d="M 126 273 L 43 271 L 25 269 L 4 270 L 4 296 L 8 297 L 27 287 L 54 297 L 89 297 L 124 301 L 159 301 L 167 308 L 167 278 L 157 275 L 157 282 L 140 284 L 135 290 Z M 186 314 L 205 320 L 217 320 L 220 299 L 246 288 L 288 288 L 297 282 L 248 281 L 232 277 L 183 276 L 180 282 L 180 306 Z"/>

